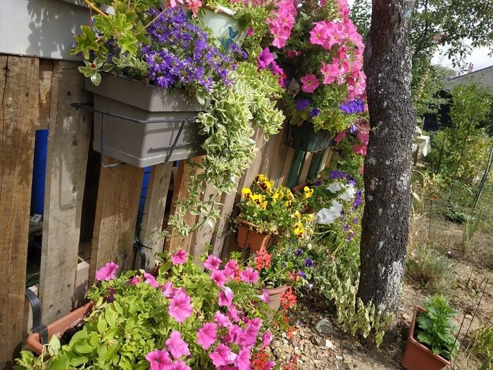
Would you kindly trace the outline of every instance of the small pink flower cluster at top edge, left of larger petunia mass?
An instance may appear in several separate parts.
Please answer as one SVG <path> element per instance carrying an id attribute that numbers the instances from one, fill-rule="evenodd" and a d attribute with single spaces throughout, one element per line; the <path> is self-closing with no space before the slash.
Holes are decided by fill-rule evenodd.
<path id="1" fill-rule="evenodd" d="M 275 5 L 276 8 L 270 13 L 267 23 L 274 37 L 273 46 L 282 48 L 291 36 L 291 30 L 296 23 L 297 9 L 294 0 L 278 0 L 275 1 Z"/>

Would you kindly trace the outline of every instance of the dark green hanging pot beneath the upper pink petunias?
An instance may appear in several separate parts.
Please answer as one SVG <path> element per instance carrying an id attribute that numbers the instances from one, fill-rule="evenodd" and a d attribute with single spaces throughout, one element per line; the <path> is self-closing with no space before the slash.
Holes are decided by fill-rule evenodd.
<path id="1" fill-rule="evenodd" d="M 303 121 L 301 125 L 291 126 L 292 147 L 304 152 L 320 152 L 332 145 L 332 135 L 327 130 L 315 132 L 313 124 Z"/>

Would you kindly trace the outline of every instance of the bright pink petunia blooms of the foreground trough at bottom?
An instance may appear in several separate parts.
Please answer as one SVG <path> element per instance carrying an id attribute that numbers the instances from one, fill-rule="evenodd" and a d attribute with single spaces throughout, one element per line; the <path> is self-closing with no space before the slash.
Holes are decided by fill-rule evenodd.
<path id="1" fill-rule="evenodd" d="M 225 314 L 216 312 L 212 321 L 204 323 L 199 328 L 196 344 L 208 351 L 208 357 L 218 370 L 251 370 L 251 354 L 254 347 L 268 346 L 272 333 L 270 331 L 262 333 L 261 319 L 249 319 L 235 307 L 233 303 L 235 293 L 231 288 L 224 286 L 224 283 L 233 278 L 245 283 L 256 283 L 258 271 L 250 267 L 242 270 L 232 259 L 222 270 L 219 269 L 220 264 L 222 261 L 212 255 L 204 261 L 204 267 L 211 271 L 211 279 L 220 287 L 218 304 L 224 307 Z M 144 275 L 144 279 L 146 283 L 153 285 L 151 278 Z M 181 323 L 192 314 L 190 297 L 183 288 L 173 288 L 170 282 L 158 285 L 158 288 L 161 288 L 164 297 L 171 299 L 168 313 L 176 321 Z M 263 292 L 261 295 L 263 300 L 267 300 L 266 294 L 268 295 L 268 292 Z M 146 359 L 150 363 L 151 370 L 189 370 L 189 366 L 185 364 L 186 358 L 185 361 L 182 359 L 183 356 L 189 355 L 189 344 L 182 339 L 180 332 L 173 331 L 170 338 L 166 340 L 166 348 L 149 352 Z M 274 366 L 274 362 L 269 361 L 263 370 L 273 369 Z"/>

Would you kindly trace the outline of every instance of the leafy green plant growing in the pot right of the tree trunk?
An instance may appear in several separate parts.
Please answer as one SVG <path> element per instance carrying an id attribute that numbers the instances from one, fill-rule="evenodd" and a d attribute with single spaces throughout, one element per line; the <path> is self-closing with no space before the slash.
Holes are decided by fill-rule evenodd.
<path id="1" fill-rule="evenodd" d="M 452 318 L 457 312 L 442 295 L 434 295 L 426 302 L 425 312 L 416 316 L 415 337 L 432 350 L 433 354 L 453 359 L 457 355 L 460 341 L 456 340 L 457 330 Z"/>

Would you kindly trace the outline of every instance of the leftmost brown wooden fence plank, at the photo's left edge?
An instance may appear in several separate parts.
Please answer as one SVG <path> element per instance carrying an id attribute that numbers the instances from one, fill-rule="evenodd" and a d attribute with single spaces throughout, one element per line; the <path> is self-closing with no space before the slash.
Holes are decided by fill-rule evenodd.
<path id="1" fill-rule="evenodd" d="M 23 337 L 39 61 L 0 56 L 0 369 Z"/>

